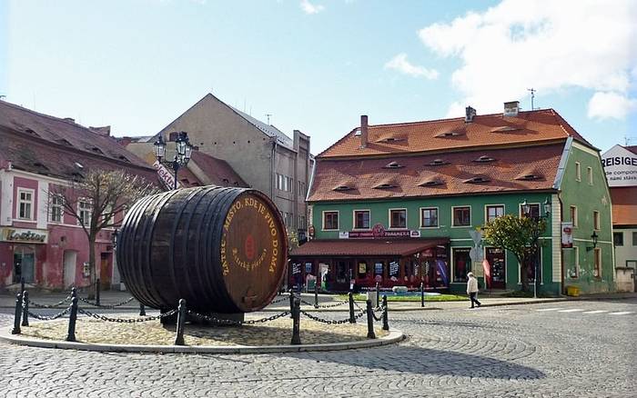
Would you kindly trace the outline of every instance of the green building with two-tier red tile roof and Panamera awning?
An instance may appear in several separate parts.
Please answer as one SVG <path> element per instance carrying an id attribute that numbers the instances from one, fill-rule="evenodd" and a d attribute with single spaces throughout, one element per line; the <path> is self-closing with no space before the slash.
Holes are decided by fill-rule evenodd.
<path id="1" fill-rule="evenodd" d="M 539 292 L 613 291 L 600 153 L 560 114 L 521 112 L 515 102 L 503 114 L 468 107 L 464 118 L 415 123 L 369 125 L 361 116 L 316 157 L 312 239 L 292 252 L 290 283 L 320 275 L 336 291 L 379 283 L 463 292 L 472 271 L 483 287 L 519 290 L 515 256 L 477 245 L 475 234 L 492 217 L 520 215 L 524 201 L 531 216 L 547 217 L 529 266 Z"/>

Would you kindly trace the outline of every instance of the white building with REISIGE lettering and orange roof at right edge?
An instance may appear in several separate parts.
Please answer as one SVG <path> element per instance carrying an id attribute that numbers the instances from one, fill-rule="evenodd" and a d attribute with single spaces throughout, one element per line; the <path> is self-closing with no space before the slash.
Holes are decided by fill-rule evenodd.
<path id="1" fill-rule="evenodd" d="M 611 187 L 617 288 L 637 292 L 637 146 L 613 146 L 602 164 Z"/>

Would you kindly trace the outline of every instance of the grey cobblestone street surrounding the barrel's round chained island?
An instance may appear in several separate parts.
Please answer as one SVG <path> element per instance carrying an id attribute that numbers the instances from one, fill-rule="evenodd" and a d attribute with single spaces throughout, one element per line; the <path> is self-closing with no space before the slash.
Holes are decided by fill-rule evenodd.
<path id="1" fill-rule="evenodd" d="M 9 313 L 0 314 L 2 327 Z M 0 395 L 635 396 L 634 299 L 393 313 L 390 320 L 406 341 L 349 352 L 155 355 L 0 343 Z"/>

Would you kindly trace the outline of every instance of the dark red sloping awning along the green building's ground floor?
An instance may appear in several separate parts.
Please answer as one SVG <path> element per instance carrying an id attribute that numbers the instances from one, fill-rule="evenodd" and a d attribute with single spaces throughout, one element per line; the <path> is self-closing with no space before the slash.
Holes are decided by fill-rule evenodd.
<path id="1" fill-rule="evenodd" d="M 292 250 L 291 256 L 405 256 L 449 244 L 449 238 L 436 239 L 321 239 L 309 241 Z"/>

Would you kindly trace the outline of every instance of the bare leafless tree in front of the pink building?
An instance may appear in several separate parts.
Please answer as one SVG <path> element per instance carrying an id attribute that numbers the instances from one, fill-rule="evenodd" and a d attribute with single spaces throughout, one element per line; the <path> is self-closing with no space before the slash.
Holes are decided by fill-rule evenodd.
<path id="1" fill-rule="evenodd" d="M 67 185 L 55 185 L 48 193 L 49 206 L 56 204 L 73 216 L 88 238 L 90 281 L 96 276 L 96 238 L 104 228 L 119 224 L 116 214 L 137 199 L 157 191 L 157 186 L 123 171 L 89 170 Z"/>

